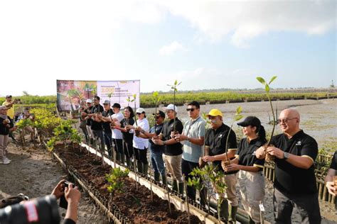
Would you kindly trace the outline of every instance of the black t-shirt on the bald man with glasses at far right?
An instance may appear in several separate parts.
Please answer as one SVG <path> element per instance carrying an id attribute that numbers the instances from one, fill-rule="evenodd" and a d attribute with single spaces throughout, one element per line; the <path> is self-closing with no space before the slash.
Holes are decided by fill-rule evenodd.
<path id="1" fill-rule="evenodd" d="M 309 157 L 315 161 L 319 152 L 316 140 L 303 130 L 296 133 L 291 139 L 280 134 L 272 138 L 270 142 L 284 152 Z M 309 169 L 295 167 L 286 159 L 275 159 L 274 187 L 287 194 L 315 194 L 317 192 L 314 164 Z"/>

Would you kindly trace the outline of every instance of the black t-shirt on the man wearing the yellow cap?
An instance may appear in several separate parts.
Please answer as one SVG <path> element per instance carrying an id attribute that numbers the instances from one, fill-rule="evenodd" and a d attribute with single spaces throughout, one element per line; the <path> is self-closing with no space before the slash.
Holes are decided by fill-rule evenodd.
<path id="1" fill-rule="evenodd" d="M 230 127 L 228 125 L 221 125 L 217 130 L 214 130 L 213 128 L 210 128 L 206 131 L 205 135 L 205 146 L 210 147 L 209 155 L 220 155 L 225 153 L 225 145 L 228 133 L 230 131 L 230 135 L 228 138 L 228 150 L 230 149 L 237 149 L 237 142 L 236 142 L 236 135 L 233 130 L 230 130 Z M 232 158 L 230 158 L 232 159 Z M 222 170 L 225 174 L 235 174 L 238 171 L 233 172 L 225 172 L 223 170 L 223 167 L 221 167 L 221 161 L 214 161 L 214 166 L 218 167 L 218 170 Z"/>

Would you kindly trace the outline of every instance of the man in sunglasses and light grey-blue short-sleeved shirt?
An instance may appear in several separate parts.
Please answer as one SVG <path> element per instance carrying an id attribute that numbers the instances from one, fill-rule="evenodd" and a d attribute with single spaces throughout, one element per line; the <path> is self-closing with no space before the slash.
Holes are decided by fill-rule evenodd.
<path id="1" fill-rule="evenodd" d="M 178 142 L 183 143 L 183 157 L 181 159 L 181 172 L 186 181 L 192 179 L 190 173 L 199 165 L 199 157 L 203 156 L 203 141 L 205 139 L 205 121 L 200 117 L 200 104 L 191 101 L 186 108 L 190 120 L 183 125 L 183 133 L 174 135 Z M 196 188 L 187 186 L 188 198 L 196 201 Z M 200 203 L 205 204 L 204 194 L 200 192 Z"/>

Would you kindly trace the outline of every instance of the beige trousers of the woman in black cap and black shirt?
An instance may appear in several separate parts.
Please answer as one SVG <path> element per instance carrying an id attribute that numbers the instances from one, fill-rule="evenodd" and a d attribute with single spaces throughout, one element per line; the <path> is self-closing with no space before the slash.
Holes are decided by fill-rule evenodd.
<path id="1" fill-rule="evenodd" d="M 243 208 L 255 223 L 260 223 L 259 204 L 264 200 L 263 173 L 240 170 L 239 184 Z"/>

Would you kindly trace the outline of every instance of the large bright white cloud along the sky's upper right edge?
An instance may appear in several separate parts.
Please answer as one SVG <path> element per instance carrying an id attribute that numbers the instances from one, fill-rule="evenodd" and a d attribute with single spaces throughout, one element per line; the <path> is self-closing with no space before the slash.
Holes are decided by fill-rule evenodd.
<path id="1" fill-rule="evenodd" d="M 174 16 L 196 29 L 196 40 L 250 47 L 250 40 L 269 32 L 321 35 L 336 28 L 336 1 L 163 1 Z M 199 36 L 201 35 L 201 36 Z"/>

